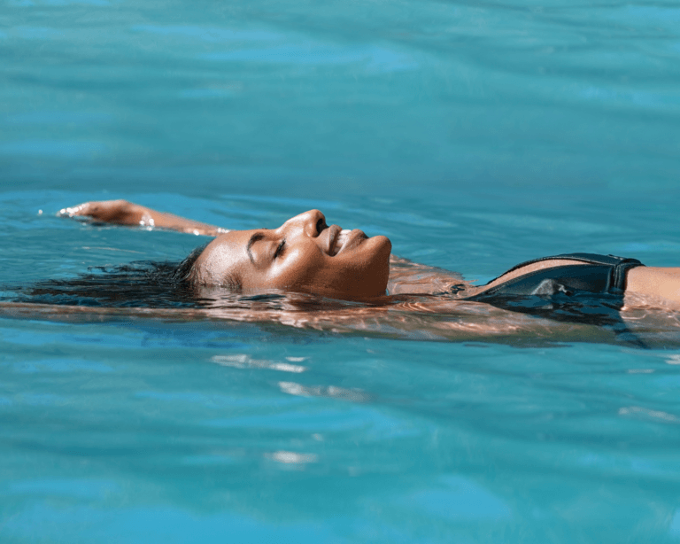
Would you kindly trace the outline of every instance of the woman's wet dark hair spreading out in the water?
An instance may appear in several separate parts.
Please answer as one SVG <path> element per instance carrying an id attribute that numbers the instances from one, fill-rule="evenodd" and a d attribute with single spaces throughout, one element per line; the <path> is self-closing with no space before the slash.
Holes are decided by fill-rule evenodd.
<path id="1" fill-rule="evenodd" d="M 89 267 L 73 278 L 32 285 L 4 286 L 4 299 L 35 304 L 89 307 L 201 307 L 193 284 L 193 266 L 205 245 L 182 262 L 136 260 Z"/>

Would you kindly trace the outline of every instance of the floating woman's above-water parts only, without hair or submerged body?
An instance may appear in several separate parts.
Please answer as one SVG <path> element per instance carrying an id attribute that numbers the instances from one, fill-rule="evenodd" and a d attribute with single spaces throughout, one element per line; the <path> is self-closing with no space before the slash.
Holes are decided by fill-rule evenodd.
<path id="1" fill-rule="evenodd" d="M 243 293 L 306 292 L 348 300 L 379 299 L 386 290 L 390 294 L 447 292 L 457 299 L 491 303 L 504 296 L 570 296 L 588 291 L 618 297 L 625 306 L 646 299 L 680 307 L 680 268 L 645 267 L 638 260 L 583 253 L 523 263 L 482 286 L 419 265 L 415 268 L 421 277 L 413 281 L 408 261 L 390 259 L 387 237 L 328 226 L 318 210 L 297 215 L 278 229 L 232 231 L 124 200 L 87 202 L 61 214 L 215 237 L 187 267 L 186 280 L 197 287 L 220 286 Z M 390 261 L 396 265 L 391 277 Z"/>

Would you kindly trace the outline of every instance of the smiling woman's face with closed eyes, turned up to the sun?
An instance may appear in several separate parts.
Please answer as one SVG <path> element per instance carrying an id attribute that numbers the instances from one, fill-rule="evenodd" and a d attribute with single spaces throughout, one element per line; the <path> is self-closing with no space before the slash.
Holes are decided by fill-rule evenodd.
<path id="1" fill-rule="evenodd" d="M 302 291 L 335 299 L 385 293 L 391 244 L 360 230 L 326 225 L 319 210 L 278 229 L 234 230 L 217 237 L 194 264 L 204 285 L 239 285 L 243 292 Z"/>

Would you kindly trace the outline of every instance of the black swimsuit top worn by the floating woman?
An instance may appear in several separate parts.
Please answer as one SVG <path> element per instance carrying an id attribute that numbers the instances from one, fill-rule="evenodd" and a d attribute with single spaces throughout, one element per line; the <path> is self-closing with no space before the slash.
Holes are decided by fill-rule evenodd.
<path id="1" fill-rule="evenodd" d="M 609 327 L 621 339 L 644 346 L 626 328 L 620 314 L 626 272 L 630 268 L 645 266 L 637 259 L 568 253 L 522 262 L 498 278 L 529 264 L 555 259 L 580 260 L 585 264 L 567 264 L 529 272 L 464 299 L 556 321 Z"/>

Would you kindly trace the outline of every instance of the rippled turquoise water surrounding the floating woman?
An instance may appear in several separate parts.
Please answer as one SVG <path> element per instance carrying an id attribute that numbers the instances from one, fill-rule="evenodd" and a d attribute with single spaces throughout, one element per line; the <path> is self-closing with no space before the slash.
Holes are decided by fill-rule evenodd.
<path id="1" fill-rule="evenodd" d="M 491 279 L 678 265 L 680 6 L 0 6 L 0 284 L 318 207 Z M 119 315 L 0 320 L 0 540 L 676 542 L 680 351 Z"/>

